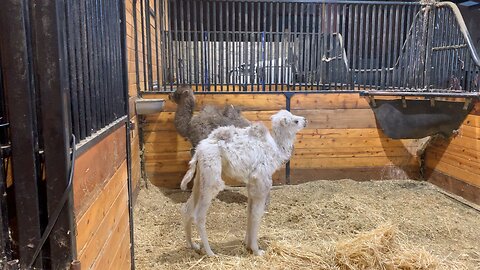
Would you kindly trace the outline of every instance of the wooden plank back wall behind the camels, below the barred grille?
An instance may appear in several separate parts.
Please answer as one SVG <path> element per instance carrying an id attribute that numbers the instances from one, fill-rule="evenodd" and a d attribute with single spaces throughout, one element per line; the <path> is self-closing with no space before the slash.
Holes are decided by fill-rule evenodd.
<path id="1" fill-rule="evenodd" d="M 145 94 L 145 98 L 167 98 Z M 252 121 L 270 121 L 286 107 L 283 94 L 196 94 L 197 110 L 206 104 L 233 104 Z M 143 125 L 148 179 L 176 188 L 190 160 L 190 143 L 174 127 L 176 106 L 146 117 Z M 418 178 L 417 140 L 391 140 L 377 128 L 368 103 L 358 94 L 295 94 L 291 111 L 305 116 L 308 127 L 297 136 L 291 159 L 291 183 L 317 179 L 355 180 Z M 285 170 L 274 177 L 285 183 Z"/>

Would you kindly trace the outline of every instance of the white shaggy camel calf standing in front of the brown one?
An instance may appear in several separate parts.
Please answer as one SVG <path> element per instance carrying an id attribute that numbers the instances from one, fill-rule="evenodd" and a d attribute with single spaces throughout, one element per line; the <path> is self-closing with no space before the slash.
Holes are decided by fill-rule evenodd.
<path id="1" fill-rule="evenodd" d="M 185 190 L 195 175 L 192 194 L 182 213 L 189 248 L 200 248 L 191 239 L 191 226 L 195 223 L 205 252 L 209 256 L 215 255 L 208 243 L 205 221 L 212 199 L 225 187 L 223 173 L 246 184 L 248 219 L 245 245 L 255 255 L 264 254 L 258 247 L 257 236 L 272 187 L 272 175 L 290 159 L 295 135 L 306 126 L 304 117 L 285 110 L 274 114 L 271 120 L 271 134 L 262 123 L 247 128 L 220 127 L 198 144 L 181 183 L 181 188 Z"/>

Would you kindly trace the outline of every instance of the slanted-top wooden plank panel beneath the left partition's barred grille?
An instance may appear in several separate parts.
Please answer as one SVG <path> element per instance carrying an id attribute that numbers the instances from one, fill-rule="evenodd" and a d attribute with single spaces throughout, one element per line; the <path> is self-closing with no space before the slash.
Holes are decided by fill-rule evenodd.
<path id="1" fill-rule="evenodd" d="M 82 269 L 130 269 L 125 143 L 121 126 L 76 159 L 73 193 Z"/>

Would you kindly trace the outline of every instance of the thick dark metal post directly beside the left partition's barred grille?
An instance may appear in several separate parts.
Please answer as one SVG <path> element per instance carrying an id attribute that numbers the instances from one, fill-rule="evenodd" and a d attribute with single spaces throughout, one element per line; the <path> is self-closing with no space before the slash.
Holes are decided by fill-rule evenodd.
<path id="1" fill-rule="evenodd" d="M 44 72 L 39 79 L 44 140 L 47 207 L 54 211 L 69 184 L 70 108 L 68 104 L 68 69 L 66 68 L 65 10 L 63 1 L 40 1 L 35 5 L 36 69 Z M 76 232 L 73 193 L 50 234 L 52 269 L 66 269 L 76 258 Z"/>

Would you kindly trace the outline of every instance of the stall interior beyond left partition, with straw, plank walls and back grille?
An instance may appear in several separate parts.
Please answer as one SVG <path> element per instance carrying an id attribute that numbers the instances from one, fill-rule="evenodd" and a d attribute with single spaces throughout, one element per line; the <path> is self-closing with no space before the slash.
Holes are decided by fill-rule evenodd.
<path id="1" fill-rule="evenodd" d="M 480 62 L 455 4 L 133 4 L 136 29 L 150 25 L 133 37 L 145 44 L 135 55 L 139 96 L 166 100 L 139 116 L 137 268 L 478 267 Z M 267 125 L 280 109 L 309 121 L 273 177 L 264 258 L 242 244 L 246 190 L 232 179 L 207 218 L 219 257 L 185 247 L 180 209 L 190 193 L 178 188 L 191 144 L 168 100 L 181 84 L 194 90 L 196 112 L 233 104 Z"/>

